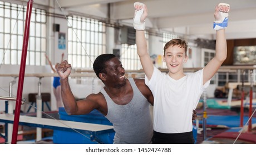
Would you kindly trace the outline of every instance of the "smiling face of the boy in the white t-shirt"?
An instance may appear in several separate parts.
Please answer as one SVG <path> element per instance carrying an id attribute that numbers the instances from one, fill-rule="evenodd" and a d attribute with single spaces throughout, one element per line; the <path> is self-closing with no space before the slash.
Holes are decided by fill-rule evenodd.
<path id="1" fill-rule="evenodd" d="M 164 62 L 170 73 L 183 73 L 183 64 L 188 60 L 185 56 L 185 48 L 180 48 L 179 45 L 169 46 L 165 50 Z"/>

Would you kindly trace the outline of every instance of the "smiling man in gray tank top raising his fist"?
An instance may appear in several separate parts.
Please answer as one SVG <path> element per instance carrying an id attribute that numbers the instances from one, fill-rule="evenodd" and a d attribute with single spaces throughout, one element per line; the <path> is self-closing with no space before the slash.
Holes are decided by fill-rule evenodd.
<path id="1" fill-rule="evenodd" d="M 149 104 L 153 105 L 154 99 L 144 80 L 126 79 L 125 69 L 114 54 L 99 55 L 93 70 L 105 86 L 98 94 L 76 101 L 68 84 L 71 65 L 65 60 L 57 67 L 68 115 L 83 115 L 97 109 L 113 123 L 114 143 L 151 143 L 153 126 Z"/>

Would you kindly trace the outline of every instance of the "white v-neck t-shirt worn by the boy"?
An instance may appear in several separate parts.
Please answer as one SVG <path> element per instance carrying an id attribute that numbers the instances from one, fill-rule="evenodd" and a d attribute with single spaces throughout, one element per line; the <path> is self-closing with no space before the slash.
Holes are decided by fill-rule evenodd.
<path id="1" fill-rule="evenodd" d="M 209 80 L 203 85 L 203 69 L 174 80 L 154 67 L 151 79 L 145 77 L 145 84 L 154 95 L 154 130 L 161 133 L 192 131 L 193 110 L 210 84 Z"/>

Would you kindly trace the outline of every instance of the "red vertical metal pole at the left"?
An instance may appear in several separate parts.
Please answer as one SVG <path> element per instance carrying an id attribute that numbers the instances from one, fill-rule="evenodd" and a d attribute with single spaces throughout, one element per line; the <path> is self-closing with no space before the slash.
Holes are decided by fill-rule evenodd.
<path id="1" fill-rule="evenodd" d="M 27 3 L 27 13 L 26 13 L 24 36 L 23 36 L 21 66 L 19 67 L 17 100 L 16 100 L 14 121 L 13 121 L 12 144 L 17 143 L 17 137 L 18 137 L 18 123 L 19 123 L 19 114 L 21 111 L 21 100 L 22 100 L 24 74 L 25 74 L 25 68 L 26 68 L 28 39 L 29 39 L 29 26 L 30 26 L 30 18 L 31 18 L 32 6 L 33 6 L 32 4 L 33 4 L 33 0 L 29 0 Z"/>

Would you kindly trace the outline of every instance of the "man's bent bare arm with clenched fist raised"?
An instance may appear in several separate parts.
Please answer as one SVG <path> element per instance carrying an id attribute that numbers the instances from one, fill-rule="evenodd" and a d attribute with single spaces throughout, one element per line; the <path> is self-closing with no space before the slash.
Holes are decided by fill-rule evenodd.
<path id="1" fill-rule="evenodd" d="M 71 69 L 71 64 L 68 64 L 66 60 L 57 66 L 57 73 L 61 77 L 62 102 L 68 115 L 83 115 L 90 113 L 95 108 L 99 109 L 99 104 L 97 104 L 99 97 L 95 94 L 87 96 L 85 100 L 76 101 L 68 83 Z"/>

